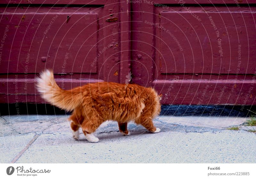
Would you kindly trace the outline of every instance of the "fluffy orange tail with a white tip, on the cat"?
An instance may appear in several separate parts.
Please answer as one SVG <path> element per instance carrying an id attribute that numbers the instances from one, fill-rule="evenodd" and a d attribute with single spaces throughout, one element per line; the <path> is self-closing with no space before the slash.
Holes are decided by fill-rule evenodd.
<path id="1" fill-rule="evenodd" d="M 36 88 L 48 103 L 67 111 L 82 104 L 81 87 L 62 90 L 53 77 L 53 72 L 45 70 L 36 80 Z"/>

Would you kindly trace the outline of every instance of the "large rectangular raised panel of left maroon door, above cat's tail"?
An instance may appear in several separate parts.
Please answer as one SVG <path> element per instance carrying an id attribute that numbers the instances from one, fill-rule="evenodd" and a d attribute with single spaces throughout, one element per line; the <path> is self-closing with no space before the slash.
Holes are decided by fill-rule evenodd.
<path id="1" fill-rule="evenodd" d="M 5 10 L 0 32 L 8 27 L 13 41 L 6 43 L 1 72 L 39 73 L 53 67 L 55 73 L 96 73 L 97 64 L 87 59 L 97 55 L 97 14 L 86 8 L 61 14 L 61 8 L 38 10 Z"/>

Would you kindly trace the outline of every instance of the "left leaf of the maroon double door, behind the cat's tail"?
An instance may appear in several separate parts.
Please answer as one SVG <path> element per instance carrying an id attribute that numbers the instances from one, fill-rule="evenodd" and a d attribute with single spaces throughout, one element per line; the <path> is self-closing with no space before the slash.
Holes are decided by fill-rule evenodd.
<path id="1" fill-rule="evenodd" d="M 46 68 L 53 69 L 63 89 L 88 82 L 125 82 L 130 71 L 129 9 L 125 2 L 3 3 L 0 103 L 44 103 L 35 89 L 35 77 Z"/>

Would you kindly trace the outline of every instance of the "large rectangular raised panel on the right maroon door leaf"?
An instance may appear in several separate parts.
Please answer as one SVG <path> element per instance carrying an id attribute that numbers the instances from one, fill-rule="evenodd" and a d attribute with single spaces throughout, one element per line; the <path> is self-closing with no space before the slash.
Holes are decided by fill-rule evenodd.
<path id="1" fill-rule="evenodd" d="M 255 12 L 241 13 L 234 8 L 218 8 L 219 12 L 207 8 L 204 8 L 206 12 L 199 8 L 190 10 L 201 21 L 188 12 L 160 12 L 162 28 L 156 31 L 160 37 L 156 42 L 160 45 L 160 72 L 253 74 L 256 66 Z"/>

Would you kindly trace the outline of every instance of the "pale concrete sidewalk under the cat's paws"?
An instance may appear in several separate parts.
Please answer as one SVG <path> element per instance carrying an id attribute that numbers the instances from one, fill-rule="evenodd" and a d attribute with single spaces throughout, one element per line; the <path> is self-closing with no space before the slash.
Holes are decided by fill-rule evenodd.
<path id="1" fill-rule="evenodd" d="M 255 163 L 256 134 L 242 124 L 246 118 L 172 117 L 155 120 L 160 133 L 128 125 L 122 136 L 116 122 L 95 132 L 89 143 L 80 131 L 72 138 L 68 116 L 2 116 L 1 163 Z M 238 131 L 227 130 L 239 126 Z M 254 127 L 256 129 L 256 127 Z"/>

